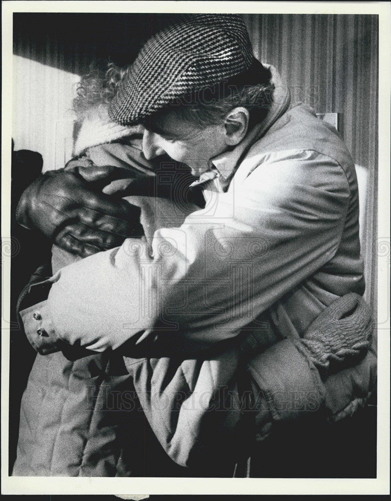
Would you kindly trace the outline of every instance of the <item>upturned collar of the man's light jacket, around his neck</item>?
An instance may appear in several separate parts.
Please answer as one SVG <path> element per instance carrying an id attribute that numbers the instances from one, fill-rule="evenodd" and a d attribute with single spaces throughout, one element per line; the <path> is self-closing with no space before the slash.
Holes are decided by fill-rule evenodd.
<path id="1" fill-rule="evenodd" d="M 243 156 L 288 109 L 291 101 L 289 88 L 285 85 L 274 66 L 262 64 L 269 68 L 272 74 L 271 83 L 274 84 L 273 104 L 265 120 L 253 127 L 233 150 L 212 158 L 210 160 L 210 170 L 204 172 L 190 186 L 201 185 L 203 189 L 211 191 L 226 191 Z"/>

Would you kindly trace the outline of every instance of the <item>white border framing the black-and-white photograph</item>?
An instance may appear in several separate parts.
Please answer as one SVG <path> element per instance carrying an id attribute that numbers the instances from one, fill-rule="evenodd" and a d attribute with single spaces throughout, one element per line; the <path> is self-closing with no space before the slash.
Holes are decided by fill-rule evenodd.
<path id="1" fill-rule="evenodd" d="M 246 14 L 379 15 L 379 168 L 378 235 L 389 246 L 390 202 L 390 53 L 391 5 L 388 2 L 84 2 L 6 1 L 2 3 L 2 312 L 10 307 L 12 26 L 16 12 L 237 12 Z M 2 318 L 2 494 L 387 494 L 389 493 L 389 252 L 378 261 L 378 314 L 388 326 L 378 337 L 377 476 L 337 478 L 70 478 L 8 475 L 9 328 Z M 385 293 L 386 292 L 386 293 Z"/>

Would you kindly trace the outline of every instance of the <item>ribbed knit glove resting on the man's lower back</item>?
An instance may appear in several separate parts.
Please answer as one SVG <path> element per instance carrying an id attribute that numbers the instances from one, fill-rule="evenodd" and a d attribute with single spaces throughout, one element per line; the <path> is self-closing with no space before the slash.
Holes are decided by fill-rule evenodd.
<path id="1" fill-rule="evenodd" d="M 325 375 L 330 362 L 341 363 L 365 354 L 373 328 L 369 306 L 360 296 L 350 293 L 326 308 L 301 341 L 315 366 Z"/>

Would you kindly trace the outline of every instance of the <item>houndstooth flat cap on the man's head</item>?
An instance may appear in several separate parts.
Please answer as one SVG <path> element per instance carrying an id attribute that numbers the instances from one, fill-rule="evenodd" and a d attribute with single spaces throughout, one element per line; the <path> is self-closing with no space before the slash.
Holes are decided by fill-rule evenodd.
<path id="1" fill-rule="evenodd" d="M 109 116 L 121 125 L 135 125 L 178 98 L 246 72 L 253 63 L 240 16 L 183 15 L 141 49 L 119 85 Z"/>

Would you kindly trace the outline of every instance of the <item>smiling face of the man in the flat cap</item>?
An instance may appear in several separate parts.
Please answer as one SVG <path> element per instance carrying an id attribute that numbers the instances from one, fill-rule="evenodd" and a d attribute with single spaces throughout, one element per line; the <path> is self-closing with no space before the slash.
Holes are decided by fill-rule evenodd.
<path id="1" fill-rule="evenodd" d="M 227 149 L 224 125 L 200 130 L 169 112 L 144 126 L 142 150 L 145 158 L 151 160 L 167 153 L 173 160 L 188 165 L 194 176 L 209 170 L 210 160 Z"/>

